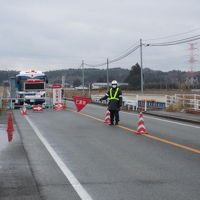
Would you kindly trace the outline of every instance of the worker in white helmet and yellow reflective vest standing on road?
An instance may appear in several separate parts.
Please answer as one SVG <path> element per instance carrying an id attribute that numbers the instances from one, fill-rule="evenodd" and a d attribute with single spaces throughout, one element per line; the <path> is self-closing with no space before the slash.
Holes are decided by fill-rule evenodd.
<path id="1" fill-rule="evenodd" d="M 112 81 L 112 88 L 107 92 L 107 94 L 100 99 L 106 100 L 109 99 L 108 110 L 110 111 L 110 125 L 118 125 L 119 122 L 119 110 L 122 106 L 122 91 L 117 87 L 117 81 Z"/>

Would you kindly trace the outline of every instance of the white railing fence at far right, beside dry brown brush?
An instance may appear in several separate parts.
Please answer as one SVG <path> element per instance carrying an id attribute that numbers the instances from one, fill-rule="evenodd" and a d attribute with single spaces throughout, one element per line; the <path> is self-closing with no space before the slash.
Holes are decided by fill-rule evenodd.
<path id="1" fill-rule="evenodd" d="M 166 107 L 172 104 L 180 104 L 185 110 L 200 111 L 200 95 L 197 94 L 175 94 L 166 95 Z"/>

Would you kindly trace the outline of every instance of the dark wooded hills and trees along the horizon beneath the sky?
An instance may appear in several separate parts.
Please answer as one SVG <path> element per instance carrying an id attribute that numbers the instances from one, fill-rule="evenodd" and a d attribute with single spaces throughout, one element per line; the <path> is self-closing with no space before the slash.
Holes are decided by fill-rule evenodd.
<path id="1" fill-rule="evenodd" d="M 82 69 L 60 69 L 46 71 L 49 83 L 61 83 L 62 76 L 71 86 L 80 86 L 82 84 Z M 16 76 L 18 71 L 0 71 L 0 85 L 9 80 L 9 77 Z M 106 82 L 106 69 L 86 68 L 84 69 L 85 85 L 94 82 Z M 192 78 L 195 77 L 194 80 Z M 138 63 L 133 65 L 131 69 L 111 68 L 109 69 L 109 80 L 117 80 L 118 82 L 128 83 L 126 89 L 140 90 L 141 86 L 141 67 Z M 143 69 L 143 80 L 145 89 L 189 89 L 200 88 L 200 71 L 192 74 L 191 72 L 183 72 L 172 70 L 163 72 L 160 70 Z"/>

